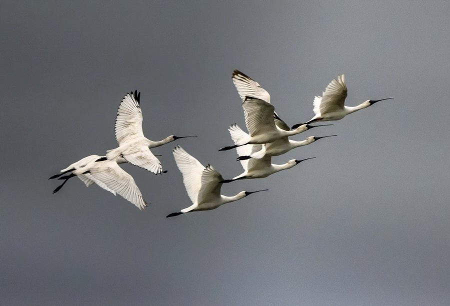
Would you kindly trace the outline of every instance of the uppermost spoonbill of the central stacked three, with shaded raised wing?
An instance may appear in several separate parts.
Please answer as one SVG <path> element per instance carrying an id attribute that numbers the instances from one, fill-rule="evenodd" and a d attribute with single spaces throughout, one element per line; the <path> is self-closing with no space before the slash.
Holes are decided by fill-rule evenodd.
<path id="1" fill-rule="evenodd" d="M 229 150 L 245 144 L 263 144 L 273 142 L 281 137 L 291 136 L 301 133 L 315 126 L 321 125 L 309 125 L 302 124 L 293 130 L 284 130 L 275 125 L 274 121 L 274 107 L 272 104 L 267 103 L 259 98 L 246 96 L 242 103 L 242 107 L 245 114 L 245 125 L 248 129 L 248 133 L 245 137 L 240 137 L 238 142 L 231 146 L 225 146 L 219 149 L 219 151 Z M 231 132 L 233 125 L 228 128 Z"/>

